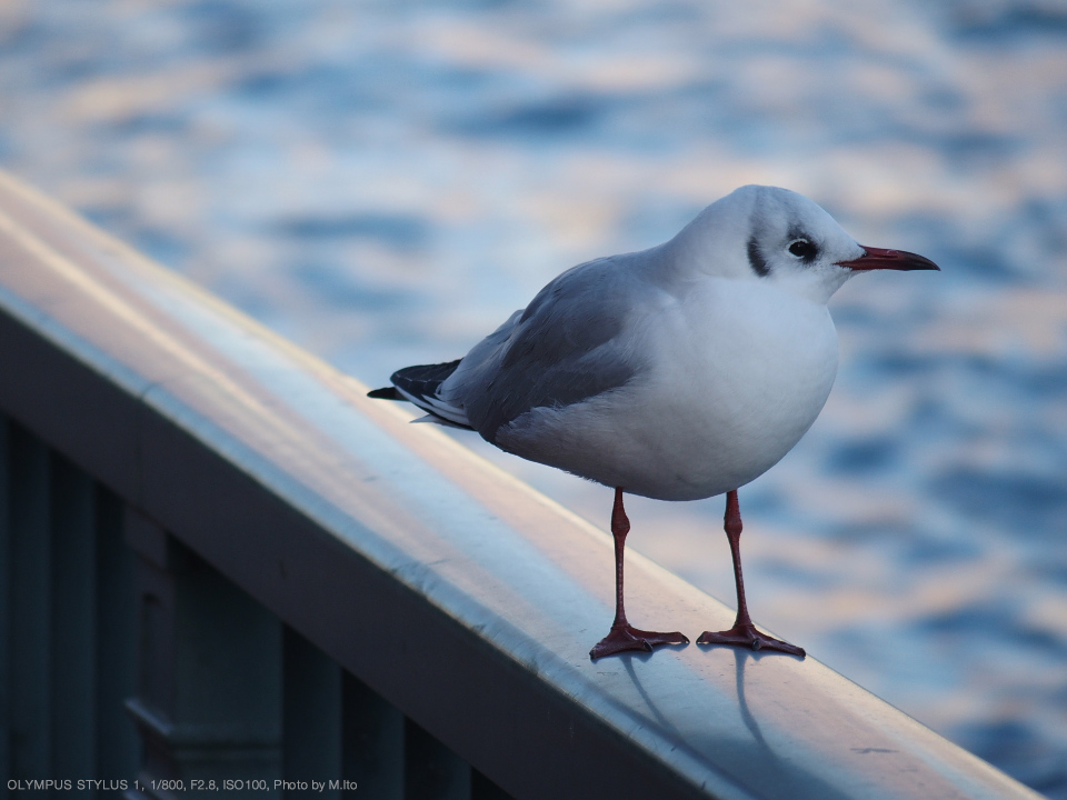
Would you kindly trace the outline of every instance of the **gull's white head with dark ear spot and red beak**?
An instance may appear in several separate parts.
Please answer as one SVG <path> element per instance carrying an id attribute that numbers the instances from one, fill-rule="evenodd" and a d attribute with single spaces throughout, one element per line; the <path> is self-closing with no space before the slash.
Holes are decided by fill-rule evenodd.
<path id="1" fill-rule="evenodd" d="M 857 272 L 938 269 L 915 253 L 858 244 L 818 204 L 777 187 L 732 191 L 701 211 L 670 246 L 690 269 L 766 281 L 821 303 Z"/>

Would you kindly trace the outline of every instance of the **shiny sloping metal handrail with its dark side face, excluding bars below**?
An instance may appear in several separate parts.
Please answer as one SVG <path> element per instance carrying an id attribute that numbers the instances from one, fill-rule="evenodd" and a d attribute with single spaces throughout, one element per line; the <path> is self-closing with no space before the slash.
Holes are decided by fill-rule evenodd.
<path id="1" fill-rule="evenodd" d="M 1037 797 L 365 392 L 0 174 L 0 410 L 515 797 Z"/>

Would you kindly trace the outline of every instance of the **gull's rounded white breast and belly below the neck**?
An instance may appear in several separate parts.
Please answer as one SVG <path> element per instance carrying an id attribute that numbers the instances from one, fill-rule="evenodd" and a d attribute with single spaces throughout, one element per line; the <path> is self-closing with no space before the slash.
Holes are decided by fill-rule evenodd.
<path id="1" fill-rule="evenodd" d="M 512 423 L 506 449 L 606 486 L 696 500 L 754 480 L 811 427 L 837 373 L 825 304 L 704 278 L 626 332 L 654 353 L 621 389 Z"/>

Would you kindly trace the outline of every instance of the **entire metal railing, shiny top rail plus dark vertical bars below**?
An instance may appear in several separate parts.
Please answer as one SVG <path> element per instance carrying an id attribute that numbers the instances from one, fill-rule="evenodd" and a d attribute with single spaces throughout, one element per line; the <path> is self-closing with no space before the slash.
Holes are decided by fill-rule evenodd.
<path id="1" fill-rule="evenodd" d="M 363 393 L 0 176 L 6 786 L 1036 797 L 812 658 L 590 662 L 610 538 Z M 732 621 L 636 553 L 627 592 Z"/>

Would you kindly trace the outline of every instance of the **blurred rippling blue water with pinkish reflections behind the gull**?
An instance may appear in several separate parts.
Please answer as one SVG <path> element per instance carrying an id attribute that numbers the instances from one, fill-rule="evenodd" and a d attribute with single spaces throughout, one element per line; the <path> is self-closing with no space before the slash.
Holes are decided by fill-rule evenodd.
<path id="1" fill-rule="evenodd" d="M 741 491 L 750 600 L 1067 798 L 1061 2 L 3 0 L 0 103 L 0 166 L 371 384 L 742 183 L 933 258 L 832 301 L 830 401 Z M 629 504 L 732 599 L 721 500 Z"/>

